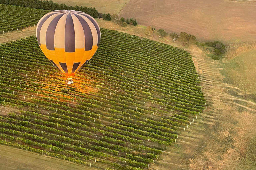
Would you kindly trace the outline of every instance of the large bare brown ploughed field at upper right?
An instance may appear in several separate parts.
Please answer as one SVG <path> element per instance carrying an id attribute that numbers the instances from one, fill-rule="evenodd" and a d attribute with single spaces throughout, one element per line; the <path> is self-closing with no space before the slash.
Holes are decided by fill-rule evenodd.
<path id="1" fill-rule="evenodd" d="M 226 0 L 130 0 L 120 17 L 200 40 L 256 41 L 256 3 Z"/>

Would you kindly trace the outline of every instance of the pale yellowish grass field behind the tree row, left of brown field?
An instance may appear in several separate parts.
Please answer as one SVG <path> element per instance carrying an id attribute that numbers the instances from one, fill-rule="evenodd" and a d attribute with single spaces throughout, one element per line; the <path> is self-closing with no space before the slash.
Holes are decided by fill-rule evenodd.
<path id="1" fill-rule="evenodd" d="M 59 4 L 66 4 L 70 6 L 86 6 L 96 8 L 99 13 L 110 13 L 110 14 L 118 14 L 123 6 L 128 2 L 128 0 L 87 0 L 87 1 L 80 1 L 80 0 L 53 0 L 53 2 Z"/>

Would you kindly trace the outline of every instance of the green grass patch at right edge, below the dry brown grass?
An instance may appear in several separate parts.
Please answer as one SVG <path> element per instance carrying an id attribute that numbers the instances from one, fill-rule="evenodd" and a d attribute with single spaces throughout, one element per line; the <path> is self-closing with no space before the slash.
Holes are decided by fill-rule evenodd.
<path id="1" fill-rule="evenodd" d="M 256 50 L 248 51 L 222 64 L 225 80 L 247 93 L 256 94 Z"/>

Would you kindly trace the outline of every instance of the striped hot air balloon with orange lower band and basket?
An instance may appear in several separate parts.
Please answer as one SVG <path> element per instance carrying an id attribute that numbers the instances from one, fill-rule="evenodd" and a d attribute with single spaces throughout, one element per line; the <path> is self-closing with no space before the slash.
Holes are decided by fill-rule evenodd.
<path id="1" fill-rule="evenodd" d="M 75 10 L 45 14 L 36 26 L 36 38 L 44 55 L 72 84 L 74 74 L 98 49 L 100 28 L 90 15 Z"/>

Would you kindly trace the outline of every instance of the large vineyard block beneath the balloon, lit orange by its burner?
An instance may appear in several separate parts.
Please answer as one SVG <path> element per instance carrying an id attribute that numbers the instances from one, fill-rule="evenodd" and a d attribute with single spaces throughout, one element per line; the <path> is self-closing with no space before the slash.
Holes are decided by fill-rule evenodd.
<path id="1" fill-rule="evenodd" d="M 1 144 L 123 170 L 148 169 L 173 147 L 205 105 L 191 55 L 116 31 L 101 34 L 71 86 L 35 37 L 0 45 Z"/>

